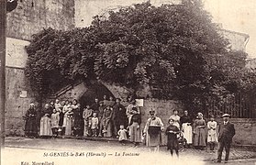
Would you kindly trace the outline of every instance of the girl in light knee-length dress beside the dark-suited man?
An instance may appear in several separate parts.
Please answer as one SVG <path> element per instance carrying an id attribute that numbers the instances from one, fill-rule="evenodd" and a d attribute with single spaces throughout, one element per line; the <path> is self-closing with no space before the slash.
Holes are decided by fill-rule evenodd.
<path id="1" fill-rule="evenodd" d="M 215 144 L 217 143 L 217 122 L 214 121 L 214 116 L 211 115 L 210 121 L 207 123 L 207 128 L 208 128 L 208 137 L 207 137 L 207 142 L 210 146 L 210 150 L 214 150 Z"/>

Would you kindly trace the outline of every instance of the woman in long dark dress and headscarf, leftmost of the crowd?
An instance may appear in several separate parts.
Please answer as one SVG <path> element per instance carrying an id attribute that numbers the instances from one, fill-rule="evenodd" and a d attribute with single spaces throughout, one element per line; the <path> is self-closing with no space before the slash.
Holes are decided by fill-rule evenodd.
<path id="1" fill-rule="evenodd" d="M 36 137 L 38 134 L 37 128 L 37 111 L 35 104 L 29 104 L 29 109 L 25 114 L 25 136 L 27 137 Z"/>

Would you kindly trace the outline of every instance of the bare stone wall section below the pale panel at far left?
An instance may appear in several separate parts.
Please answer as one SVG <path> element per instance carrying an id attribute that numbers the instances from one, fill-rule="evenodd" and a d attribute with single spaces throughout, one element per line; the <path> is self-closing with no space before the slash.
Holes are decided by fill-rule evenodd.
<path id="1" fill-rule="evenodd" d="M 23 135 L 22 118 L 35 95 L 29 89 L 23 69 L 6 68 L 6 135 Z"/>

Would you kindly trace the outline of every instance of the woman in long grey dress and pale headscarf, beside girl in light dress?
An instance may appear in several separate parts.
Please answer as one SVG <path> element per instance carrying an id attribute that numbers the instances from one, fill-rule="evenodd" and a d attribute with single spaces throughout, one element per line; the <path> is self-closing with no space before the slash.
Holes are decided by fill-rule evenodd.
<path id="1" fill-rule="evenodd" d="M 206 147 L 206 121 L 203 119 L 202 113 L 198 113 L 194 126 L 194 146 L 195 148 L 204 149 Z"/>

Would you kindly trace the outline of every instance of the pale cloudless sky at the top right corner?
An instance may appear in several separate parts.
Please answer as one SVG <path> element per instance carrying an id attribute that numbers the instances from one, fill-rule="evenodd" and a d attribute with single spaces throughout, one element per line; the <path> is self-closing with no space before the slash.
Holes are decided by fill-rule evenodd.
<path id="1" fill-rule="evenodd" d="M 228 30 L 250 36 L 246 47 L 249 58 L 256 58 L 256 0 L 203 0 L 213 22 Z"/>

